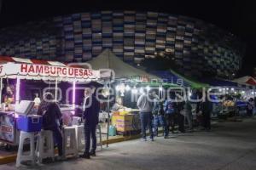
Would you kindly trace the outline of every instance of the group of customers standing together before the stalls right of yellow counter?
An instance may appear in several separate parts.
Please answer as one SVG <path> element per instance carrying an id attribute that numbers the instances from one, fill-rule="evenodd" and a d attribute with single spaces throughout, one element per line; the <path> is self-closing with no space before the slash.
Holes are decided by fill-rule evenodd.
<path id="1" fill-rule="evenodd" d="M 146 130 L 150 133 L 150 140 L 154 141 L 154 136 L 158 136 L 158 127 L 162 127 L 164 138 L 167 139 L 170 131 L 177 130 L 185 133 L 185 122 L 188 124 L 188 131 L 192 132 L 194 123 L 192 106 L 188 99 L 178 101 L 175 93 L 168 95 L 169 98 L 160 99 L 153 91 L 151 94 L 144 93 L 137 100 L 137 107 L 140 110 L 140 120 L 142 126 L 143 141 L 147 140 Z M 196 103 L 196 114 L 201 117 L 203 130 L 211 130 L 212 103 L 205 99 Z"/>

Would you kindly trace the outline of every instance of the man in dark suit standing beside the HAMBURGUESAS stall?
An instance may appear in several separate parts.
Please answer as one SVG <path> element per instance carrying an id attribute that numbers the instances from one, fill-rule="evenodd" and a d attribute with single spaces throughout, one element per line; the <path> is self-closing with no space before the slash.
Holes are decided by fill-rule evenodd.
<path id="1" fill-rule="evenodd" d="M 84 119 L 84 139 L 85 149 L 81 156 L 90 159 L 90 156 L 96 156 L 96 126 L 99 122 L 100 102 L 94 95 L 95 88 L 90 86 L 84 89 L 83 119 Z M 92 148 L 90 150 L 90 138 Z"/>

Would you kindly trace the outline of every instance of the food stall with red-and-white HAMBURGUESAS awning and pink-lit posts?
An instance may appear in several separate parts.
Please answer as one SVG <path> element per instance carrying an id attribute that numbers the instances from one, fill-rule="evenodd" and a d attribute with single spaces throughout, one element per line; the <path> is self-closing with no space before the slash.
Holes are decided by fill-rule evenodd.
<path id="1" fill-rule="evenodd" d="M 20 81 L 44 81 L 49 83 L 49 87 L 54 91 L 55 101 L 58 101 L 58 84 L 59 82 L 70 82 L 72 88 L 72 101 L 69 105 L 61 107 L 61 111 L 75 110 L 75 90 L 77 82 L 97 81 L 100 78 L 100 71 L 84 69 L 78 65 L 65 65 L 57 61 L 47 61 L 38 59 L 20 59 L 15 57 L 1 56 L 0 58 L 0 99 L 2 104 L 3 80 L 12 79 L 15 81 L 15 101 L 5 101 L 1 105 L 0 110 L 0 141 L 2 143 L 16 145 L 19 140 L 19 131 L 16 128 L 16 118 L 18 114 L 15 112 L 16 105 L 20 103 L 22 95 L 27 93 L 26 89 L 20 87 Z M 54 82 L 54 83 L 53 83 Z M 26 82 L 25 82 L 26 83 Z M 39 100 L 39 101 L 38 101 Z M 38 96 L 34 102 L 40 102 Z M 13 103 L 13 104 L 11 104 Z"/>

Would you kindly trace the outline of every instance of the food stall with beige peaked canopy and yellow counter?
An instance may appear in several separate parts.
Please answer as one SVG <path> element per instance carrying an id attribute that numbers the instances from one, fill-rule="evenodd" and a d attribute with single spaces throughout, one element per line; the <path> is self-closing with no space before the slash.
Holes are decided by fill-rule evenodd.
<path id="1" fill-rule="evenodd" d="M 136 102 L 132 102 L 132 105 L 127 105 L 128 103 L 126 101 L 129 100 L 128 98 L 131 96 L 132 92 L 136 92 L 138 90 L 138 87 L 136 89 L 133 88 L 139 82 L 145 82 L 146 80 L 149 81 L 149 79 L 160 79 L 160 77 L 154 76 L 147 71 L 143 71 L 142 68 L 137 68 L 135 65 L 129 65 L 128 63 L 124 62 L 123 59 L 113 54 L 109 49 L 105 49 L 102 54 L 98 55 L 94 59 L 91 59 L 88 63 L 94 69 L 113 71 L 114 80 L 108 83 L 108 88 L 112 88 L 115 93 L 114 97 L 121 97 L 123 100 L 121 105 L 126 106 L 123 109 L 120 109 L 120 111 L 110 111 L 115 101 L 113 101 L 113 103 L 108 103 L 108 125 L 113 123 L 113 125 L 118 128 L 118 132 L 120 133 L 139 131 L 140 121 Z M 132 79 L 135 77 L 137 81 L 132 81 Z M 125 84 L 125 87 L 123 85 L 119 87 L 119 84 L 122 83 Z M 107 129 L 109 128 L 107 127 Z"/>

